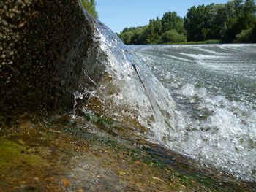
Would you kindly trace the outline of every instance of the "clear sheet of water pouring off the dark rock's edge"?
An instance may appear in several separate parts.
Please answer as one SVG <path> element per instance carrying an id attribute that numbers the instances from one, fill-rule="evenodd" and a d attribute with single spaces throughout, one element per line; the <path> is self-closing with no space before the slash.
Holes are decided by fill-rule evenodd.
<path id="1" fill-rule="evenodd" d="M 89 93 L 83 110 L 97 112 L 124 127 L 133 126 L 155 141 L 162 141 L 170 134 L 170 129 L 177 126 L 175 102 L 169 91 L 113 31 L 98 20 L 95 20 L 95 28 L 95 46 L 91 47 L 89 55 L 96 55 L 95 69 L 104 66 L 103 77 L 82 93 Z M 94 79 L 93 75 L 85 73 Z M 75 96 L 81 99 L 79 93 Z"/>

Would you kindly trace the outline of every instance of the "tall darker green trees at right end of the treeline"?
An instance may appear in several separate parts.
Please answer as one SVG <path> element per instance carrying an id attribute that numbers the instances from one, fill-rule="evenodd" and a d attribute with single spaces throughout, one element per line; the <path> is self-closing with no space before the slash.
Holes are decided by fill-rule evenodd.
<path id="1" fill-rule="evenodd" d="M 254 25 L 255 3 L 252 0 L 233 0 L 228 1 L 227 4 L 193 6 L 184 19 L 188 41 L 221 39 L 221 42 L 234 42 L 241 31 L 252 28 Z M 246 34 L 249 35 L 249 33 L 243 33 L 243 35 Z M 241 39 L 241 36 L 238 38 Z M 246 38 L 243 37 L 243 39 Z M 252 41 L 252 38 L 247 39 L 250 39 L 249 42 Z"/>

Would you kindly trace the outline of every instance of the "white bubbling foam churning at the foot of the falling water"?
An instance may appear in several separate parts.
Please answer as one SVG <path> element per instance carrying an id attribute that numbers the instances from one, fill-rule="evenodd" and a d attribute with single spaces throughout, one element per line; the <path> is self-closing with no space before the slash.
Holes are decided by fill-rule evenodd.
<path id="1" fill-rule="evenodd" d="M 178 129 L 180 133 L 173 134 L 173 137 L 187 136 L 187 141 L 175 139 L 176 142 L 170 145 L 177 149 L 182 148 L 184 153 L 194 158 L 203 158 L 204 161 L 211 162 L 221 169 L 233 172 L 236 177 L 255 180 L 256 177 L 252 172 L 256 163 L 256 111 L 253 107 L 228 101 L 225 96 L 211 96 L 206 88 L 195 88 L 192 84 L 184 85 L 177 92 L 187 97 L 189 101 L 195 101 L 193 100 L 195 96 L 199 97 L 200 107 L 197 109 L 207 109 L 211 111 L 211 115 L 202 122 L 184 114 L 187 117 L 187 125 L 192 128 L 189 130 L 180 128 Z"/>

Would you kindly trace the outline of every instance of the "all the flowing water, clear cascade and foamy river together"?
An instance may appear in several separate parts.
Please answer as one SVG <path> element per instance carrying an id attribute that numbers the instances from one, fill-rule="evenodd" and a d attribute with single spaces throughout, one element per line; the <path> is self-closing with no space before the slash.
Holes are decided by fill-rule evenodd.
<path id="1" fill-rule="evenodd" d="M 105 78 L 94 82 L 85 72 L 94 87 L 74 93 L 90 93 L 85 112 L 256 180 L 256 45 L 127 47 L 102 23 L 95 27 L 87 62 L 96 57 L 93 68 L 104 68 Z"/>

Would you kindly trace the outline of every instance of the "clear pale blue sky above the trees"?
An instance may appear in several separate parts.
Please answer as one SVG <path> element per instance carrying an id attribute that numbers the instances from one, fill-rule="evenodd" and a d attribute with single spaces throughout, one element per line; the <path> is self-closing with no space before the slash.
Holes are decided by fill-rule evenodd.
<path id="1" fill-rule="evenodd" d="M 99 20 L 114 32 L 125 27 L 145 26 L 148 20 L 175 11 L 181 17 L 193 5 L 227 3 L 228 0 L 97 0 Z"/>

